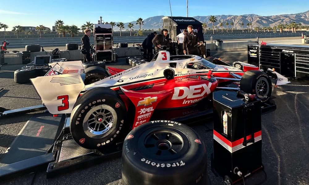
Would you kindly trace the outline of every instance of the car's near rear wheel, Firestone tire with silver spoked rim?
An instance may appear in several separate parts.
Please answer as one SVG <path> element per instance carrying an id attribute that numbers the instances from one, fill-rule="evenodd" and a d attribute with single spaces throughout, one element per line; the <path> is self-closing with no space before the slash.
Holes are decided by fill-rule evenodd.
<path id="1" fill-rule="evenodd" d="M 84 148 L 108 147 L 125 131 L 126 114 L 117 92 L 105 87 L 90 89 L 78 98 L 71 113 L 72 138 Z"/>

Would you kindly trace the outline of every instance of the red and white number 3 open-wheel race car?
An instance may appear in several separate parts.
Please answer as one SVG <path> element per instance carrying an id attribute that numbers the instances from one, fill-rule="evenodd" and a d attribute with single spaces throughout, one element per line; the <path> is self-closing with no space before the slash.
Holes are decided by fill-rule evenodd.
<path id="1" fill-rule="evenodd" d="M 148 122 L 155 110 L 197 105 L 215 90 L 242 90 L 268 101 L 275 72 L 257 66 L 161 50 L 151 62 L 85 85 L 79 73 L 31 79 L 52 114 L 70 114 L 70 132 L 80 146 L 102 149 Z M 105 72 L 104 74 L 107 74 Z M 95 74 L 94 74 L 95 75 Z"/>

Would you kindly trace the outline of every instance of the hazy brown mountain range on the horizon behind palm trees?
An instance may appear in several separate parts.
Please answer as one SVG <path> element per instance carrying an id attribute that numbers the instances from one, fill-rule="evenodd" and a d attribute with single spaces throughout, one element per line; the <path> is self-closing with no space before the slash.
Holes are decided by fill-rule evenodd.
<path id="1" fill-rule="evenodd" d="M 159 28 L 162 29 L 163 26 L 163 21 L 162 17 L 164 16 L 154 16 L 154 17 L 149 17 L 147 19 L 144 19 L 144 25 L 142 25 L 142 29 L 148 30 L 148 29 L 154 29 L 158 30 Z M 288 24 L 291 22 L 296 22 L 296 23 L 302 23 L 303 26 L 309 25 L 309 10 L 303 13 L 298 13 L 298 14 L 282 14 L 282 15 L 271 15 L 271 16 L 260 16 L 256 14 L 245 14 L 245 15 L 215 15 L 217 18 L 217 22 L 214 24 L 217 26 L 219 23 L 223 22 L 223 28 L 226 28 L 225 23 L 231 23 L 233 22 L 234 25 L 233 27 L 235 29 L 242 29 L 241 23 L 243 23 L 243 27 L 247 27 L 247 23 L 252 23 L 252 28 L 254 27 L 273 27 L 278 24 Z M 200 21 L 201 23 L 207 23 L 208 27 L 212 27 L 212 23 L 209 22 L 209 16 L 195 16 L 193 17 Z M 117 22 L 118 23 L 118 22 Z M 116 23 L 116 24 L 117 24 Z M 134 30 L 139 29 L 139 25 L 136 25 L 136 21 L 132 21 L 129 23 L 133 23 Z M 125 29 L 124 30 L 129 30 L 127 25 L 129 23 L 124 23 L 125 24 Z M 219 27 L 219 26 L 218 26 Z M 231 28 L 231 26 L 229 26 Z M 119 31 L 119 27 L 114 27 L 114 31 Z"/>

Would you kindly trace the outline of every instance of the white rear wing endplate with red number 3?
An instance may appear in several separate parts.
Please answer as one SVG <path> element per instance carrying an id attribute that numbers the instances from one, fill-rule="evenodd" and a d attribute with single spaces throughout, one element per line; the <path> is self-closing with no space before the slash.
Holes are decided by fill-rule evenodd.
<path id="1" fill-rule="evenodd" d="M 85 86 L 79 73 L 39 76 L 30 80 L 52 114 L 71 113 Z"/>

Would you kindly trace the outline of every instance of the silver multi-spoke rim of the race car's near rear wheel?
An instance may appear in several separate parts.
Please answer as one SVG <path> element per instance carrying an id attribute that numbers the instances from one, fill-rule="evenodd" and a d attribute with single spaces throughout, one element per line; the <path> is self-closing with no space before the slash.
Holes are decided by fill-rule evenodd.
<path id="1" fill-rule="evenodd" d="M 83 129 L 91 138 L 103 138 L 117 122 L 116 111 L 109 105 L 98 105 L 88 111 L 83 120 Z"/>

